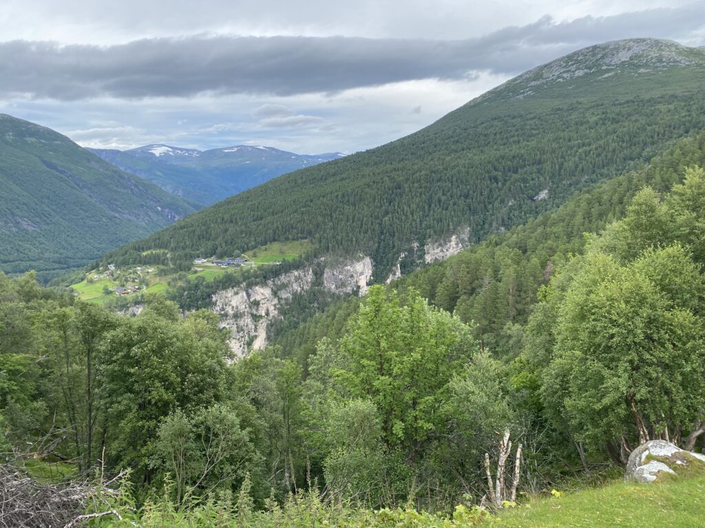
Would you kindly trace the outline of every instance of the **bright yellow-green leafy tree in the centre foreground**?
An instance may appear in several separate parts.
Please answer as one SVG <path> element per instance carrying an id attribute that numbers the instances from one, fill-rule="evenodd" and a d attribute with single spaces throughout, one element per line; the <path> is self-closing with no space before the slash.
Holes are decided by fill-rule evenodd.
<path id="1" fill-rule="evenodd" d="M 440 427 L 448 380 L 477 344 L 469 327 L 430 308 L 415 291 L 402 301 L 395 291 L 372 287 L 341 350 L 352 372 L 339 374 L 379 410 L 386 445 L 403 448 L 413 463 Z"/>

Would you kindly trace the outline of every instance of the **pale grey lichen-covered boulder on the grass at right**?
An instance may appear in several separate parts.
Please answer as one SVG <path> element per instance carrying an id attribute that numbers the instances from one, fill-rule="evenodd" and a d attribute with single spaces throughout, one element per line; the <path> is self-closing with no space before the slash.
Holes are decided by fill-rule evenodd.
<path id="1" fill-rule="evenodd" d="M 651 440 L 629 455 L 625 479 L 654 482 L 662 474 L 677 474 L 679 468 L 693 465 L 705 470 L 705 455 L 684 451 L 665 440 Z"/>

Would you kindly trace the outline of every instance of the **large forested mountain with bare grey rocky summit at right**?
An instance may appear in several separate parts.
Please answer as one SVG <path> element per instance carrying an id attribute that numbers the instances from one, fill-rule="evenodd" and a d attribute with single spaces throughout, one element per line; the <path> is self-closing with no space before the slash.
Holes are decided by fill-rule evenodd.
<path id="1" fill-rule="evenodd" d="M 424 260 L 429 241 L 470 243 L 563 203 L 705 128 L 705 51 L 630 39 L 516 77 L 396 142 L 277 178 L 129 244 L 175 263 L 309 239 L 363 253 L 384 280 Z M 462 238 L 462 237 L 461 237 Z"/>

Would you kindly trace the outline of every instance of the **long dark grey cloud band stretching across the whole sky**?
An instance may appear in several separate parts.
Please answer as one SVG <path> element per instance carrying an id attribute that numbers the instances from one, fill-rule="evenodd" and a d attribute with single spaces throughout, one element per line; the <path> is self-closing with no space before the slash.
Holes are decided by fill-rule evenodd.
<path id="1" fill-rule="evenodd" d="M 585 45 L 628 37 L 687 37 L 705 1 L 611 17 L 537 23 L 476 39 L 200 36 L 116 46 L 0 43 L 0 95 L 59 100 L 110 96 L 339 92 L 390 82 L 515 74 Z M 270 109 L 271 110 L 271 109 Z M 271 115 L 270 117 L 274 117 Z M 286 126 L 283 116 L 270 126 Z"/>

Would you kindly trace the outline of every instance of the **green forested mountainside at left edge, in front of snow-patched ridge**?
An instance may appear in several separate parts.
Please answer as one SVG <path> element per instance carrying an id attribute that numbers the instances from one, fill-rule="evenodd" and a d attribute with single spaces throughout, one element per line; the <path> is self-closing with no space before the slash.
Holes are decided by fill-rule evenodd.
<path id="1" fill-rule="evenodd" d="M 67 137 L 0 114 L 0 269 L 49 278 L 193 213 Z"/>

